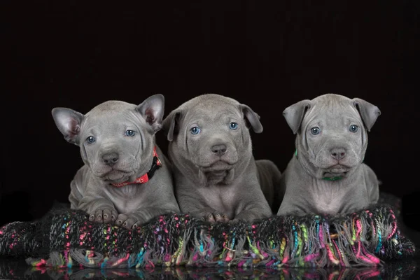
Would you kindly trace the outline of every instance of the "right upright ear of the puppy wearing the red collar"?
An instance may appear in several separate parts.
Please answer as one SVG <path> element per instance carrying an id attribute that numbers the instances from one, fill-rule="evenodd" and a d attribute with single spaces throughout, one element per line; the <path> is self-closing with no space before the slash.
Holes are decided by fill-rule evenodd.
<path id="1" fill-rule="evenodd" d="M 151 125 L 154 132 L 162 128 L 162 118 L 165 111 L 165 97 L 162 94 L 155 94 L 144 100 L 136 110 L 143 116 L 146 123 Z"/>

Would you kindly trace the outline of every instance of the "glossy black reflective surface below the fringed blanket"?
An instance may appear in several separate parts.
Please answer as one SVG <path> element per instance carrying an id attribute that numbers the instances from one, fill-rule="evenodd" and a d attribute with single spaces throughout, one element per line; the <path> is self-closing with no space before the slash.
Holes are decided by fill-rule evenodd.
<path id="1" fill-rule="evenodd" d="M 420 279 L 419 260 L 388 262 L 384 267 L 346 269 L 237 269 L 156 267 L 155 269 L 45 269 L 24 259 L 0 258 L 0 279 Z"/>

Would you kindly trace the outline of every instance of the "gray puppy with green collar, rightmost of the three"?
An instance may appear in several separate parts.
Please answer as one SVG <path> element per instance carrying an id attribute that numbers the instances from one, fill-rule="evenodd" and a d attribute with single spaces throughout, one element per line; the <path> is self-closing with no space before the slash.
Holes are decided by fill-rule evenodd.
<path id="1" fill-rule="evenodd" d="M 282 174 L 278 215 L 348 214 L 379 198 L 379 182 L 363 163 L 367 132 L 380 111 L 363 99 L 324 94 L 283 111 L 297 134 L 296 154 Z"/>

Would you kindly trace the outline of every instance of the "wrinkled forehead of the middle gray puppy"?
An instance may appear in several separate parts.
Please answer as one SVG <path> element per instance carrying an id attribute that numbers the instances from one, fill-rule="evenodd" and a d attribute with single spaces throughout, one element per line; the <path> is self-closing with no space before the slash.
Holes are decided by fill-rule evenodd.
<path id="1" fill-rule="evenodd" d="M 186 122 L 194 119 L 202 119 L 206 122 L 215 123 L 227 118 L 241 118 L 241 111 L 236 104 L 207 103 L 198 104 L 190 108 L 185 115 Z"/>

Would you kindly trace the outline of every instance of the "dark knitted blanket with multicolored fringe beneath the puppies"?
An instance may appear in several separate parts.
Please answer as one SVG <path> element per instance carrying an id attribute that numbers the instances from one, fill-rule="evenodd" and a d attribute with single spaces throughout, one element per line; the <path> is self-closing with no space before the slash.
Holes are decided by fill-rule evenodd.
<path id="1" fill-rule="evenodd" d="M 414 255 L 414 244 L 400 232 L 399 203 L 381 194 L 378 204 L 346 216 L 273 216 L 233 224 L 167 214 L 135 230 L 55 208 L 39 221 L 0 228 L 0 256 L 25 256 L 34 267 L 377 266 Z"/>

